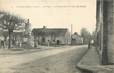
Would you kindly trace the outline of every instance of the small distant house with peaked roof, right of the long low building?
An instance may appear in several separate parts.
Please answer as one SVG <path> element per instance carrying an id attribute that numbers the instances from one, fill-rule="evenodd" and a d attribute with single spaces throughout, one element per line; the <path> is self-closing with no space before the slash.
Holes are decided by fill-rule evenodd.
<path id="1" fill-rule="evenodd" d="M 78 33 L 75 32 L 72 35 L 71 44 L 72 45 L 81 45 L 81 44 L 83 44 L 83 38 L 80 35 L 78 35 Z"/>

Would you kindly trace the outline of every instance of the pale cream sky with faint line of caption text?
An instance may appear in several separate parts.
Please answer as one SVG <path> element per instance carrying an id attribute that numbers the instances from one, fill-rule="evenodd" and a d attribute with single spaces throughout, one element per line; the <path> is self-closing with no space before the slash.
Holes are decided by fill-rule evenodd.
<path id="1" fill-rule="evenodd" d="M 0 0 L 0 3 L 1 10 L 29 18 L 32 28 L 45 25 L 70 31 L 72 24 L 73 32 L 79 33 L 81 28 L 95 30 L 96 0 Z"/>

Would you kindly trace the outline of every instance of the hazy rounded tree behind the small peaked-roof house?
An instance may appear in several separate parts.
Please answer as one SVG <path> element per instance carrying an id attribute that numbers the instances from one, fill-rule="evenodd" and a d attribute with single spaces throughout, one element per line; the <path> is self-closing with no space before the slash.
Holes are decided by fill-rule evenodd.
<path id="1" fill-rule="evenodd" d="M 91 34 L 86 28 L 81 29 L 81 36 L 83 37 L 83 43 L 88 44 L 91 39 Z"/>

